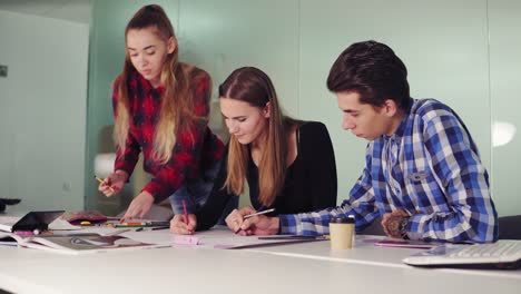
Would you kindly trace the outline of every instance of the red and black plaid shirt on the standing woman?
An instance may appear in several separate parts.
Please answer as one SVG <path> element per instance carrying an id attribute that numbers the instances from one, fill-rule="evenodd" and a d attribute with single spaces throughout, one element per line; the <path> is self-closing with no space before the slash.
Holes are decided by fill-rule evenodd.
<path id="1" fill-rule="evenodd" d="M 204 70 L 197 69 L 193 76 L 194 112 L 196 116 L 208 117 L 210 98 L 210 78 Z M 212 133 L 206 124 L 197 124 L 189 131 L 178 134 L 171 158 L 161 165 L 153 157 L 154 130 L 159 117 L 163 87 L 154 88 L 138 72 L 128 78 L 128 95 L 130 106 L 129 134 L 125 153 L 118 148 L 115 170 L 121 169 L 130 176 L 134 171 L 139 153 L 144 154 L 144 169 L 154 175 L 142 190 L 150 193 L 155 202 L 161 202 L 183 186 L 186 179 L 197 178 L 200 173 L 220 159 L 224 151 L 223 143 Z M 114 84 L 112 107 L 117 114 L 117 81 Z"/>

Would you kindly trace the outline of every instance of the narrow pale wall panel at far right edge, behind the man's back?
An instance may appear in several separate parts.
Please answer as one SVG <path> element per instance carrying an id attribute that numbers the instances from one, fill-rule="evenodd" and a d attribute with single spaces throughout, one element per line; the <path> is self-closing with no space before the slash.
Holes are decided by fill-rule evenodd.
<path id="1" fill-rule="evenodd" d="M 492 121 L 514 127 L 492 148 L 492 190 L 502 215 L 521 214 L 521 1 L 489 1 Z M 484 122 L 484 121 L 483 121 Z"/>

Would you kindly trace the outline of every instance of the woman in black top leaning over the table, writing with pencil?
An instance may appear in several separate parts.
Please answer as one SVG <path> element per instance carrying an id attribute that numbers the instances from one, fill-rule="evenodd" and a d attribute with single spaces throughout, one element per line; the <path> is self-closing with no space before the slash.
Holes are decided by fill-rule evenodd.
<path id="1" fill-rule="evenodd" d="M 214 190 L 189 222 L 184 215 L 174 217 L 173 233 L 214 226 L 230 197 L 243 194 L 246 180 L 253 207 L 228 215 L 226 224 L 234 232 L 244 215 L 256 210 L 275 208 L 273 216 L 336 205 L 335 156 L 327 128 L 284 116 L 266 74 L 253 67 L 236 69 L 220 85 L 219 102 L 232 137 Z"/>

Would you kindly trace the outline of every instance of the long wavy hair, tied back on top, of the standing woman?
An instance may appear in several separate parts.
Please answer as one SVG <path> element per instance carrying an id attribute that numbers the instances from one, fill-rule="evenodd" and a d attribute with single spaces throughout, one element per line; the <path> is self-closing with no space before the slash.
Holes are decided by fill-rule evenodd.
<path id="1" fill-rule="evenodd" d="M 125 38 L 129 30 L 153 28 L 155 33 L 165 41 L 174 38 L 174 28 L 165 10 L 160 6 L 150 4 L 139 9 L 130 19 L 125 29 Z M 176 41 L 177 43 L 177 41 Z M 125 65 L 117 77 L 118 104 L 115 118 L 114 137 L 119 148 L 125 150 L 130 119 L 129 85 L 128 79 L 136 71 L 128 50 L 125 50 Z M 170 160 L 171 150 L 176 144 L 176 135 L 188 130 L 197 119 L 193 108 L 193 92 L 189 88 L 191 67 L 178 61 L 178 46 L 169 53 L 163 66 L 160 84 L 165 86 L 161 95 L 159 118 L 154 134 L 154 159 L 160 164 Z"/>

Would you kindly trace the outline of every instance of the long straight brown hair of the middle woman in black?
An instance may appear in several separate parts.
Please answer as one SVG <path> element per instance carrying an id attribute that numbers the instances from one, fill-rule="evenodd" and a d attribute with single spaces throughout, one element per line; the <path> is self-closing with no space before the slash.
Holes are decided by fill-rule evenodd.
<path id="1" fill-rule="evenodd" d="M 259 108 L 266 107 L 269 102 L 266 143 L 258 164 L 258 198 L 263 205 L 269 206 L 284 187 L 287 133 L 296 121 L 282 114 L 272 80 L 254 67 L 243 67 L 232 72 L 219 86 L 219 97 L 245 101 Z M 244 192 L 247 163 L 248 147 L 232 136 L 228 149 L 228 174 L 224 187 L 236 195 Z"/>

